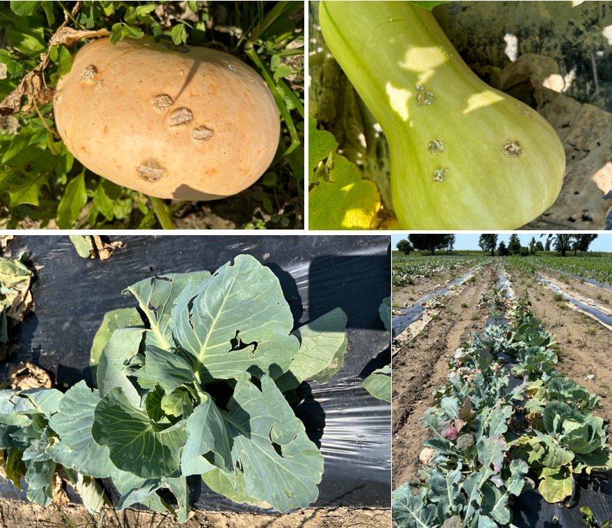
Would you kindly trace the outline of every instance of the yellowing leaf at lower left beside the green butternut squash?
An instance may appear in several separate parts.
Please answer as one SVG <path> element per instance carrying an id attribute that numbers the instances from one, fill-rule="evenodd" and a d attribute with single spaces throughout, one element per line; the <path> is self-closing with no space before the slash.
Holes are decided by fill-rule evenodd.
<path id="1" fill-rule="evenodd" d="M 308 193 L 308 226 L 313 230 L 368 230 L 381 207 L 374 182 L 361 179 L 346 158 L 333 154 L 327 178 Z"/>

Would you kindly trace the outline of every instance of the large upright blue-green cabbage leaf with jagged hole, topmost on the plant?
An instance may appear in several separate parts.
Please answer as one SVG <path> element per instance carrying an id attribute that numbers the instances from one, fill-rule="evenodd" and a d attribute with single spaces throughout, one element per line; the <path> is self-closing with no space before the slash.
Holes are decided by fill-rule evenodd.
<path id="1" fill-rule="evenodd" d="M 238 255 L 196 294 L 188 289 L 176 299 L 174 339 L 202 365 L 204 379 L 240 378 L 245 371 L 278 377 L 299 345 L 289 335 L 292 326 L 279 280 L 250 255 Z"/>

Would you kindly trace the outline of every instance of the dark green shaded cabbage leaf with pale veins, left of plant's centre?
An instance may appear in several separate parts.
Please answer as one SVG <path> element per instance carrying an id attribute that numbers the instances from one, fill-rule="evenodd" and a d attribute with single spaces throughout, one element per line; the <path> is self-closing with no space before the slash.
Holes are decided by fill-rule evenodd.
<path id="1" fill-rule="evenodd" d="M 154 428 L 147 413 L 133 406 L 120 387 L 110 390 L 97 404 L 92 435 L 108 447 L 115 466 L 145 479 L 164 477 L 179 469 L 181 448 L 187 439 L 184 422 L 163 430 Z"/>

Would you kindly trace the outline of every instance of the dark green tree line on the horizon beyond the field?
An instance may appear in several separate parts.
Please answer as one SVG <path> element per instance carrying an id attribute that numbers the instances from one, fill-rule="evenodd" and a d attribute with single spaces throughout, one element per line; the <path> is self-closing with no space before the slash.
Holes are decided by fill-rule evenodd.
<path id="1" fill-rule="evenodd" d="M 540 238 L 544 235 L 540 235 Z M 550 251 L 551 246 L 555 251 L 561 253 L 562 257 L 567 255 L 568 251 L 573 251 L 574 256 L 578 251 L 588 251 L 590 243 L 597 238 L 596 234 L 548 234 L 546 235 L 545 243 L 541 240 L 536 241 L 536 237 L 531 237 L 529 246 L 521 246 L 518 234 L 510 235 L 508 245 L 502 240 L 497 243 L 497 234 L 481 234 L 478 245 L 481 250 L 490 252 L 491 256 L 499 255 L 506 257 L 507 255 L 535 255 L 537 251 Z M 405 255 L 411 251 L 431 251 L 431 255 L 436 250 L 452 251 L 455 244 L 454 234 L 409 234 L 408 239 L 400 240 L 397 243 L 397 250 L 402 251 Z"/>

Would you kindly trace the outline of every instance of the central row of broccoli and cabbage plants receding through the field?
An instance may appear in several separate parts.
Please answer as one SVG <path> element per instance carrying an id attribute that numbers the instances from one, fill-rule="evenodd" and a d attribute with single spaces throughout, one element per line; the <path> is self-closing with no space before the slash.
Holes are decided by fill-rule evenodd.
<path id="1" fill-rule="evenodd" d="M 398 528 L 504 527 L 511 497 L 538 486 L 548 502 L 571 497 L 574 478 L 612 470 L 606 426 L 591 394 L 553 370 L 559 345 L 528 309 L 492 285 L 481 299 L 510 323 L 472 333 L 449 361 L 422 425 L 420 483 L 393 492 Z M 538 482 L 527 477 L 531 470 Z"/>

